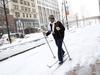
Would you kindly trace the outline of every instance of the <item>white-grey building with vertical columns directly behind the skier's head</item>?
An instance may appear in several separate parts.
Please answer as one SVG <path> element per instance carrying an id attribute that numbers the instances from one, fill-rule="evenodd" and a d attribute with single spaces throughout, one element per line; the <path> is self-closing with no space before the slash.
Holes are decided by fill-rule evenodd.
<path id="1" fill-rule="evenodd" d="M 56 19 L 60 19 L 57 0 L 37 0 L 37 9 L 41 27 L 46 27 L 48 24 L 48 16 L 51 14 L 54 15 Z"/>

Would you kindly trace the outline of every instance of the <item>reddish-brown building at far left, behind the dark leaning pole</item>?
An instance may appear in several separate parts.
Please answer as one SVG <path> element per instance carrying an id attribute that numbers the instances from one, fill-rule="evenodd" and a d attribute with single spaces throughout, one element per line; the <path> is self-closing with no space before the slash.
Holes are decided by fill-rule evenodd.
<path id="1" fill-rule="evenodd" d="M 5 19 L 5 11 L 7 14 L 7 21 L 8 21 L 8 27 L 11 32 L 15 32 L 15 20 L 13 18 L 13 15 L 9 14 L 9 9 L 8 9 L 8 2 L 5 1 L 5 10 L 4 10 L 4 4 L 3 0 L 0 0 L 0 33 L 7 33 L 7 24 L 6 24 L 6 19 Z"/>

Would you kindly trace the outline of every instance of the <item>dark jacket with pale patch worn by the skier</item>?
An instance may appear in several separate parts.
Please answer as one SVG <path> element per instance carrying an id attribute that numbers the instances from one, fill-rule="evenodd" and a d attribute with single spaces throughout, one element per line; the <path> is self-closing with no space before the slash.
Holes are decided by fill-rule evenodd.
<path id="1" fill-rule="evenodd" d="M 50 25 L 50 27 L 52 28 L 52 25 Z M 56 27 L 60 27 L 60 30 L 59 31 L 56 30 Z M 54 39 L 55 40 L 63 39 L 64 31 L 65 31 L 65 27 L 63 26 L 63 24 L 60 21 L 57 21 L 54 26 L 54 32 L 52 33 Z M 51 31 L 48 31 L 46 33 L 46 36 L 48 36 L 50 33 L 51 33 Z"/>

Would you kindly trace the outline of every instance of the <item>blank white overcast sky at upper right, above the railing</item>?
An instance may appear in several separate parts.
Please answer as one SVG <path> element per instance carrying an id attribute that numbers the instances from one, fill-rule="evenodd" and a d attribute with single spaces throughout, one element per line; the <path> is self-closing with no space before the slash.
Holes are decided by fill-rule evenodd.
<path id="1" fill-rule="evenodd" d="M 97 16 L 99 15 L 98 0 L 67 0 L 70 15 L 78 14 L 80 16 Z M 58 0 L 61 10 L 62 0 Z"/>

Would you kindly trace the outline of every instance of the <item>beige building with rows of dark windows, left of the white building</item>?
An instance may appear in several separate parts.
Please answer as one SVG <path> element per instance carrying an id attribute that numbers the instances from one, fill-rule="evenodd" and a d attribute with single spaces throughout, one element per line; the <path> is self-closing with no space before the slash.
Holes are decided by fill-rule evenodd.
<path id="1" fill-rule="evenodd" d="M 28 27 L 38 27 L 36 2 L 34 0 L 10 0 L 9 14 L 14 16 L 17 32 Z"/>

